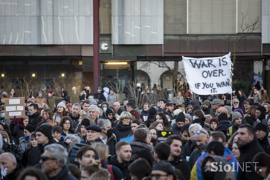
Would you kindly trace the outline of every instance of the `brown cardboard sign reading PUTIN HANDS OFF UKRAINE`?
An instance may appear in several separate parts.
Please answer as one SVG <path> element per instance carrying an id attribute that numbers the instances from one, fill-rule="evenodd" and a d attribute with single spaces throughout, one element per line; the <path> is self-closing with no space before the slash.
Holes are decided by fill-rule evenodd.
<path id="1" fill-rule="evenodd" d="M 24 97 L 5 98 L 5 118 L 25 117 Z"/>

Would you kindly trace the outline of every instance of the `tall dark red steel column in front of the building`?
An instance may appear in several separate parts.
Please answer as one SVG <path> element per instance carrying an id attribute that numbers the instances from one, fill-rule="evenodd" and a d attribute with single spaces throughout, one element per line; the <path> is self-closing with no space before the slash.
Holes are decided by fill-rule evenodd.
<path id="1" fill-rule="evenodd" d="M 93 80 L 94 80 L 94 92 L 97 92 L 99 87 L 99 0 L 93 0 Z"/>

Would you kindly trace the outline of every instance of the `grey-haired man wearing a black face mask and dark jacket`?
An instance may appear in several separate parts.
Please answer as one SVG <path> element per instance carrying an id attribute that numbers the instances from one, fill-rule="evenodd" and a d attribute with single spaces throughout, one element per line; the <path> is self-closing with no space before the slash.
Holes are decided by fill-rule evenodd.
<path id="1" fill-rule="evenodd" d="M 113 134 L 112 123 L 109 119 L 99 119 L 97 121 L 97 126 L 99 126 L 102 131 L 100 133 L 101 142 L 109 146 L 109 154 L 114 155 L 114 147 L 116 145 L 116 136 Z"/>

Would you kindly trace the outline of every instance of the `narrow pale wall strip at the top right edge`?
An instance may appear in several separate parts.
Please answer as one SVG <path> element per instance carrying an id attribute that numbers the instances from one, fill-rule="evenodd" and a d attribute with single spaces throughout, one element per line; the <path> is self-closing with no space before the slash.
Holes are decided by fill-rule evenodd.
<path id="1" fill-rule="evenodd" d="M 270 43 L 270 2 L 262 0 L 262 44 Z"/>

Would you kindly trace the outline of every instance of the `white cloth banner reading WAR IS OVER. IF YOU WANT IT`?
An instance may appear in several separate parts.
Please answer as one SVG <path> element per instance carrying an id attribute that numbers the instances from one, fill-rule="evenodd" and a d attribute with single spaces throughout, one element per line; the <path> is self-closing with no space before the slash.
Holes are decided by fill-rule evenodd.
<path id="1" fill-rule="evenodd" d="M 230 56 L 231 53 L 217 58 L 182 56 L 186 79 L 191 91 L 199 95 L 231 94 L 232 62 Z"/>

